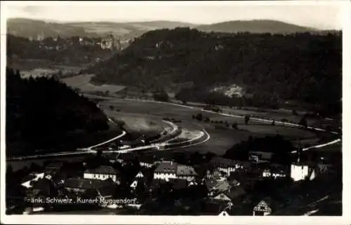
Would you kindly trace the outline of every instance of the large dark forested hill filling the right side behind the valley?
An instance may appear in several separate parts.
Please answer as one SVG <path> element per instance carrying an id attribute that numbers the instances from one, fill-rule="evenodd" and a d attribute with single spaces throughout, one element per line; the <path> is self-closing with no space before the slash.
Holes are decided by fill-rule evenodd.
<path id="1" fill-rule="evenodd" d="M 294 100 L 338 114 L 341 61 L 340 33 L 225 34 L 176 28 L 147 32 L 86 72 L 98 74 L 94 83 L 145 90 L 193 83 L 179 91 L 185 101 L 204 101 L 201 97 L 213 86 L 235 83 L 256 96 L 254 102 L 276 102 L 277 107 Z"/>

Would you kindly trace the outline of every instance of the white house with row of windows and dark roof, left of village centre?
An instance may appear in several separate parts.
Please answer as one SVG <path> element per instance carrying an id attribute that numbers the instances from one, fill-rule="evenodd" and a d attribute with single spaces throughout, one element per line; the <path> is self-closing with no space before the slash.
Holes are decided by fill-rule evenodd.
<path id="1" fill-rule="evenodd" d="M 119 181 L 119 172 L 114 170 L 112 166 L 102 165 L 99 168 L 88 169 L 84 171 L 85 179 L 112 179 L 114 182 Z"/>

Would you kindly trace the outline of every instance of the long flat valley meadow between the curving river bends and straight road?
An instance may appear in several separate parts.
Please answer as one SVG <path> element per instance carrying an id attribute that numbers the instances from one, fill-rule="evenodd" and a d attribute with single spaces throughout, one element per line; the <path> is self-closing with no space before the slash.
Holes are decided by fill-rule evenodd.
<path id="1" fill-rule="evenodd" d="M 186 151 L 211 151 L 216 154 L 224 154 L 227 149 L 230 149 L 234 144 L 241 141 L 246 141 L 249 136 L 264 137 L 265 135 L 283 135 L 292 141 L 301 139 L 305 140 L 308 144 L 318 141 L 316 134 L 308 130 L 289 128 L 283 125 L 270 125 L 270 123 L 258 123 L 257 121 L 250 121 L 249 125 L 244 125 L 243 118 L 235 118 L 213 114 L 206 111 L 199 111 L 197 109 L 189 109 L 186 107 L 179 107 L 170 104 L 161 104 L 154 102 L 138 102 L 133 100 L 106 100 L 100 102 L 102 107 L 113 106 L 115 110 L 119 110 L 119 114 L 138 114 L 152 118 L 176 118 L 181 123 L 178 125 L 181 128 L 189 130 L 201 130 L 202 128 L 211 135 L 211 138 L 197 146 L 190 146 Z M 197 113 L 203 114 L 204 118 L 208 117 L 212 121 L 227 121 L 230 123 L 238 124 L 238 130 L 227 128 L 224 124 L 205 123 L 192 119 L 192 115 Z M 116 114 L 117 116 L 118 114 Z"/>

